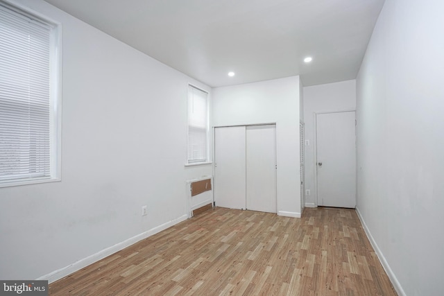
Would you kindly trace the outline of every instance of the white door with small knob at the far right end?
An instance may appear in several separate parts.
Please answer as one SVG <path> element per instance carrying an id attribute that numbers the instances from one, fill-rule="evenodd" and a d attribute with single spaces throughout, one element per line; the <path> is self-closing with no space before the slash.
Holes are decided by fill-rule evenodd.
<path id="1" fill-rule="evenodd" d="M 356 206 L 355 112 L 316 115 L 318 205 Z"/>

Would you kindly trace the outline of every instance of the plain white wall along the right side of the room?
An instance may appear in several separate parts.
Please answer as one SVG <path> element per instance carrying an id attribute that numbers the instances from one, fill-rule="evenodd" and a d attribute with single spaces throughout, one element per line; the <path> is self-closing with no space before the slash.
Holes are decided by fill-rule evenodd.
<path id="1" fill-rule="evenodd" d="M 444 295 L 443 11 L 387 0 L 357 77 L 357 209 L 401 295 Z"/>

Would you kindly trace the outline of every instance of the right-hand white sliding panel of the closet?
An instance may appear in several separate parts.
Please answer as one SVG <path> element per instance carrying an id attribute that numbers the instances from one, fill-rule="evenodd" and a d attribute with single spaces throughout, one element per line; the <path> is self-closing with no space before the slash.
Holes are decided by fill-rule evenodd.
<path id="1" fill-rule="evenodd" d="M 246 128 L 246 209 L 277 213 L 276 125 Z"/>

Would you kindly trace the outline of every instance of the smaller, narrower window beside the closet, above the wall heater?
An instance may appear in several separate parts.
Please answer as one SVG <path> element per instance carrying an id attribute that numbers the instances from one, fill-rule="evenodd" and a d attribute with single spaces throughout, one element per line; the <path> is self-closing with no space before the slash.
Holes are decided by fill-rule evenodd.
<path id="1" fill-rule="evenodd" d="M 188 86 L 188 163 L 208 161 L 208 94 Z"/>

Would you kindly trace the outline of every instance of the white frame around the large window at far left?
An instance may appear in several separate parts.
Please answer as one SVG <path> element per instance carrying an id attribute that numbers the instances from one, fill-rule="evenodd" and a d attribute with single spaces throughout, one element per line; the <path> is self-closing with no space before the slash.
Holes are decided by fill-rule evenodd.
<path id="1" fill-rule="evenodd" d="M 62 24 L 58 21 L 31 10 L 26 6 L 9 1 L 0 1 L 0 6 L 30 19 L 51 27 L 49 41 L 49 175 L 44 177 L 26 177 L 0 180 L 0 188 L 28 184 L 61 181 L 62 160 Z"/>

